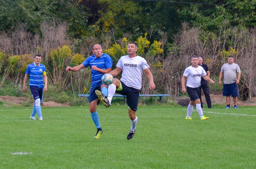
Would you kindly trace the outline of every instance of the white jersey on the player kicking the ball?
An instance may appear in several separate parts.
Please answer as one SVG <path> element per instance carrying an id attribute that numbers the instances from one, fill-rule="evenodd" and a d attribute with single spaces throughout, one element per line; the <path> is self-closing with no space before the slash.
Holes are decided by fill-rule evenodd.
<path id="1" fill-rule="evenodd" d="M 129 55 L 122 56 L 116 66 L 123 70 L 121 81 L 128 87 L 141 89 L 143 70 L 149 68 L 147 61 L 140 56 L 129 58 Z"/>

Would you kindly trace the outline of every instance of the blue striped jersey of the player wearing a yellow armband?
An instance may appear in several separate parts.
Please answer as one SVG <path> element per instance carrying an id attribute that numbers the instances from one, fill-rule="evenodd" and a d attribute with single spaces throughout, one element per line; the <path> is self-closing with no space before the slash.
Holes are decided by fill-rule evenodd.
<path id="1" fill-rule="evenodd" d="M 45 65 L 39 64 L 35 66 L 35 63 L 29 64 L 27 66 L 26 74 L 29 74 L 29 85 L 37 86 L 39 88 L 44 88 L 43 75 L 45 73 Z"/>

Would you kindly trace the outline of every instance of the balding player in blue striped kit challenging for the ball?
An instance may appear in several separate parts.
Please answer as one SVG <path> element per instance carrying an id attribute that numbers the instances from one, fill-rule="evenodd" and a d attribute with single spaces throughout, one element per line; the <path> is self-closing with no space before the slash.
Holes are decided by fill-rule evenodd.
<path id="1" fill-rule="evenodd" d="M 67 66 L 66 70 L 68 72 L 77 72 L 78 70 L 86 68 L 87 66 L 90 66 L 91 68 L 92 81 L 89 94 L 89 105 L 91 118 L 93 119 L 93 122 L 97 128 L 97 132 L 94 136 L 94 139 L 98 139 L 103 133 L 103 130 L 99 123 L 99 116 L 97 113 L 97 104 L 99 104 L 99 100 L 97 95 L 95 94 L 95 90 L 101 90 L 104 96 L 108 95 L 108 86 L 102 83 L 101 77 L 103 74 L 109 73 L 111 71 L 113 61 L 109 57 L 109 55 L 102 53 L 102 47 L 99 44 L 95 44 L 93 46 L 93 53 L 94 55 L 91 55 L 88 58 L 86 58 L 82 64 L 75 66 L 73 68 Z"/>

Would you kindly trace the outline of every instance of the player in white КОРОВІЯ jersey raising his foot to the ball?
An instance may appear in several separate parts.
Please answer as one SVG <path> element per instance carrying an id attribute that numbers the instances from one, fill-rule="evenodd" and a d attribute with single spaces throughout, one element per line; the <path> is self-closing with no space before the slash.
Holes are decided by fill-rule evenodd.
<path id="1" fill-rule="evenodd" d="M 138 122 L 136 111 L 142 86 L 143 70 L 149 79 L 149 88 L 155 89 L 153 75 L 149 70 L 150 66 L 144 58 L 136 55 L 137 50 L 138 45 L 135 42 L 130 42 L 127 46 L 128 55 L 122 56 L 117 62 L 116 69 L 110 72 L 115 77 L 123 71 L 121 79 L 114 78 L 113 83 L 109 85 L 108 97 L 105 98 L 96 91 L 99 99 L 106 107 L 110 106 L 115 92 L 127 96 L 128 114 L 131 120 L 131 129 L 127 135 L 128 140 L 133 138 Z"/>

